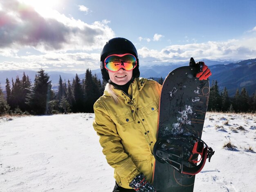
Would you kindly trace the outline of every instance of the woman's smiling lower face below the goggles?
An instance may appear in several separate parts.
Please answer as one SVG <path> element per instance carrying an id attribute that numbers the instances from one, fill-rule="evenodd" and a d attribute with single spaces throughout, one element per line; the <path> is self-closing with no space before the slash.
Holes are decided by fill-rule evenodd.
<path id="1" fill-rule="evenodd" d="M 132 70 L 126 71 L 120 68 L 118 71 L 108 71 L 110 80 L 117 85 L 125 85 L 132 78 Z"/>

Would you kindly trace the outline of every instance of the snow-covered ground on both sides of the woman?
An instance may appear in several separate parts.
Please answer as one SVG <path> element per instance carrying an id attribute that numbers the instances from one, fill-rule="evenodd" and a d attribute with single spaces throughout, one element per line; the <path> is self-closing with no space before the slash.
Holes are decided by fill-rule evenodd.
<path id="1" fill-rule="evenodd" d="M 93 120 L 94 114 L 0 117 L 0 191 L 112 192 L 113 170 Z M 256 191 L 255 114 L 207 113 L 202 139 L 215 154 L 196 175 L 195 192 Z M 237 148 L 223 148 L 229 141 Z"/>

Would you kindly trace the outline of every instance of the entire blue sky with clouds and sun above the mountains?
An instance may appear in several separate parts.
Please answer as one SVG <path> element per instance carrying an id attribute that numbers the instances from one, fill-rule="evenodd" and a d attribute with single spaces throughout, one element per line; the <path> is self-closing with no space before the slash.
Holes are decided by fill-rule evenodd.
<path id="1" fill-rule="evenodd" d="M 114 37 L 141 66 L 256 58 L 256 0 L 0 0 L 0 70 L 99 69 Z"/>

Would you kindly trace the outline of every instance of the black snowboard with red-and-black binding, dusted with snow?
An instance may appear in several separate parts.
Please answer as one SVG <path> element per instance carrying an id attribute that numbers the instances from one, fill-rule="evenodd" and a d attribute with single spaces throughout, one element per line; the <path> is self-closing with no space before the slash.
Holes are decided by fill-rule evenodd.
<path id="1" fill-rule="evenodd" d="M 214 153 L 200 139 L 210 89 L 209 80 L 195 77 L 198 70 L 179 67 L 164 80 L 154 145 L 157 192 L 193 192 L 195 174 Z"/>

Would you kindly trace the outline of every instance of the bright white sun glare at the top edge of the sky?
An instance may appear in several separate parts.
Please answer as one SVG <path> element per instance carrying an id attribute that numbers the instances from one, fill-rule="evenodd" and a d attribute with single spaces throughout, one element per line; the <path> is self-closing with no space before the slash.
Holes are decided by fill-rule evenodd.
<path id="1" fill-rule="evenodd" d="M 49 16 L 52 10 L 61 6 L 62 0 L 19 0 L 24 4 L 27 4 L 43 16 Z"/>

